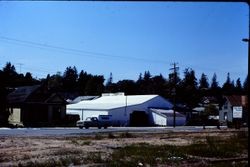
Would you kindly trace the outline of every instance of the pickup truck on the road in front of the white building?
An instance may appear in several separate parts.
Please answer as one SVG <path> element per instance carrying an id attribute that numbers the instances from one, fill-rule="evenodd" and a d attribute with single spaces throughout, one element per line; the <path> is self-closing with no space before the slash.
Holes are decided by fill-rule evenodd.
<path id="1" fill-rule="evenodd" d="M 79 120 L 76 122 L 76 126 L 82 129 L 88 129 L 89 127 L 98 127 L 99 129 L 108 128 L 112 126 L 109 115 L 99 115 L 98 117 L 87 117 L 86 120 Z"/>

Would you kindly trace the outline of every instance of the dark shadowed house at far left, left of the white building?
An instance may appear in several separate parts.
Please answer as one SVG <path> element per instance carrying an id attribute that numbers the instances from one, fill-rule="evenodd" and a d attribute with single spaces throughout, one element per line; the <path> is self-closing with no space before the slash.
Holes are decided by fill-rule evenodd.
<path id="1" fill-rule="evenodd" d="M 45 85 L 19 87 L 7 96 L 9 123 L 24 126 L 60 124 L 66 116 L 66 101 Z"/>

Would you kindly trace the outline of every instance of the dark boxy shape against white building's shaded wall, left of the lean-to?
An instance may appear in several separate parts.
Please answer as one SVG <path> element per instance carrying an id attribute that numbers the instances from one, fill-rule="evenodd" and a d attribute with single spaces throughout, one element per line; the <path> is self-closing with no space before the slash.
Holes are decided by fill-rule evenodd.
<path id="1" fill-rule="evenodd" d="M 130 126 L 149 126 L 148 114 L 145 111 L 134 111 L 130 114 Z"/>

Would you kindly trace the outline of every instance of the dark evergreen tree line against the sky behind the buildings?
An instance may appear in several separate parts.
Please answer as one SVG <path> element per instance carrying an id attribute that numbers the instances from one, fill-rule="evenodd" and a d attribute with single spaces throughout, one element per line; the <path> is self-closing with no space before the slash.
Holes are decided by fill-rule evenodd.
<path id="1" fill-rule="evenodd" d="M 164 78 L 162 74 L 152 76 L 149 71 L 145 71 L 139 74 L 137 80 L 126 79 L 114 83 L 112 73 L 105 82 L 103 75 L 92 75 L 83 70 L 78 72 L 75 66 L 69 66 L 63 74 L 58 72 L 48 74 L 46 78 L 36 79 L 30 72 L 25 75 L 17 73 L 15 66 L 7 62 L 0 70 L 0 119 L 5 113 L 6 96 L 13 88 L 37 84 L 47 84 L 50 91 L 61 93 L 65 98 L 99 96 L 102 93 L 114 92 L 124 92 L 126 95 L 158 94 L 170 100 L 175 97 L 177 102 L 190 108 L 195 107 L 204 96 L 220 99 L 222 95 L 247 95 L 248 76 L 242 83 L 240 78 L 232 80 L 228 73 L 225 83 L 219 86 L 216 73 L 211 82 L 204 73 L 197 79 L 191 68 L 186 68 L 183 74 L 184 77 L 180 78 L 177 70 L 169 73 L 168 78 Z"/>

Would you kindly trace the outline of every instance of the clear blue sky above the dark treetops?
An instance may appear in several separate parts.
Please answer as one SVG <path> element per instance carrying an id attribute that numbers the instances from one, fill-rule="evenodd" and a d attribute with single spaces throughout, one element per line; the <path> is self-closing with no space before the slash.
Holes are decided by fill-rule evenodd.
<path id="1" fill-rule="evenodd" d="M 68 66 L 114 82 L 192 68 L 222 85 L 248 72 L 245 3 L 0 2 L 0 67 L 44 78 Z M 21 65 L 20 65 L 21 64 Z M 20 68 L 21 67 L 21 68 Z"/>

